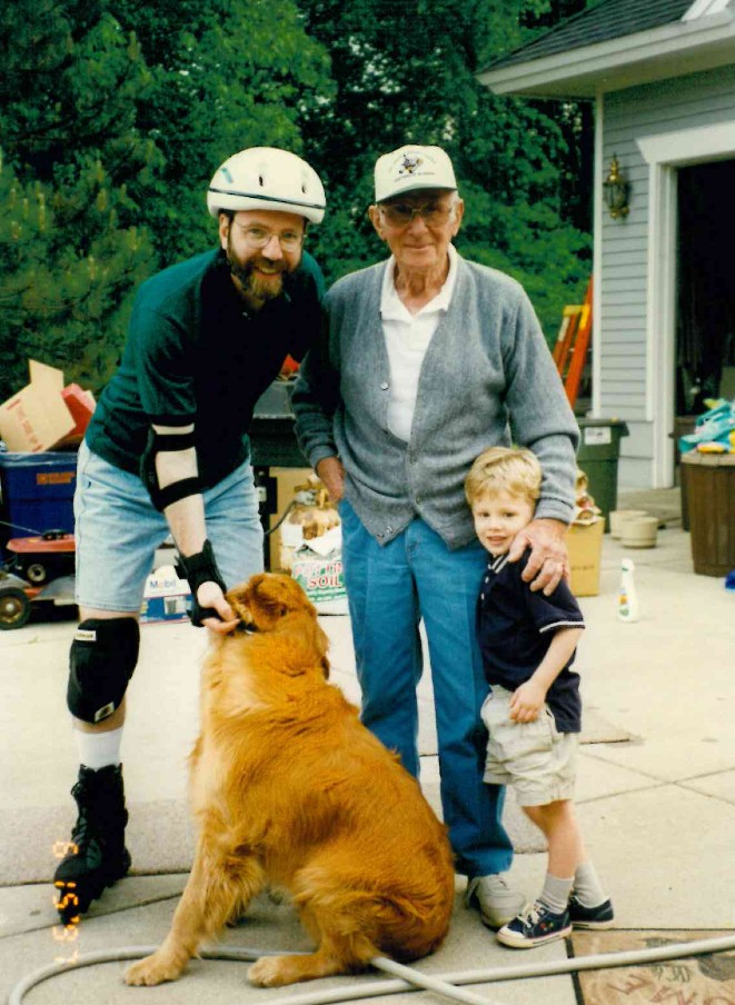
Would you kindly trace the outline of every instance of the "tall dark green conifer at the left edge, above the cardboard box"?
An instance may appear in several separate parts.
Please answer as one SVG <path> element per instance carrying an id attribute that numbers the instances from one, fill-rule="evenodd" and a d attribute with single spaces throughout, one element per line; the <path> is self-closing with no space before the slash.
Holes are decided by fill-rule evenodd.
<path id="1" fill-rule="evenodd" d="M 150 78 L 99 3 L 6 6 L 0 39 L 0 396 L 28 357 L 97 389 L 155 266 L 128 192 L 156 162 L 135 128 Z"/>

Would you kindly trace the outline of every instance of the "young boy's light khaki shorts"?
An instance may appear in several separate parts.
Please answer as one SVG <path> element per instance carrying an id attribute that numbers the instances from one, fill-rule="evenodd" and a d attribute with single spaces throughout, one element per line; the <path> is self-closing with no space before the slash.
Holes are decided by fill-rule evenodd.
<path id="1" fill-rule="evenodd" d="M 535 723 L 508 715 L 513 691 L 493 685 L 481 709 L 489 740 L 485 782 L 513 785 L 520 806 L 546 806 L 572 799 L 579 734 L 559 733 L 548 705 Z"/>

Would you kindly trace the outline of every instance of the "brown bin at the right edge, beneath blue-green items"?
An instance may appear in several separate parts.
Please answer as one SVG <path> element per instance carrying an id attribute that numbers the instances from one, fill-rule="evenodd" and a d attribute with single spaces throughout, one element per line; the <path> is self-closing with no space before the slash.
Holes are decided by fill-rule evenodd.
<path id="1" fill-rule="evenodd" d="M 692 533 L 692 560 L 699 576 L 735 569 L 735 454 L 682 457 Z M 683 469 L 684 470 L 684 469 Z"/>

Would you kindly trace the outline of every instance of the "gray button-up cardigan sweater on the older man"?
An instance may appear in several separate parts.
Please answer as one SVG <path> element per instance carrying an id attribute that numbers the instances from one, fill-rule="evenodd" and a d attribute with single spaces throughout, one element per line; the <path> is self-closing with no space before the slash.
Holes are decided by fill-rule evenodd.
<path id="1" fill-rule="evenodd" d="M 544 471 L 537 517 L 568 524 L 579 430 L 534 309 L 518 282 L 460 258 L 451 304 L 421 367 L 408 444 L 388 429 L 390 368 L 380 320 L 385 262 L 340 279 L 321 344 L 292 406 L 312 467 L 339 455 L 345 495 L 386 544 L 420 517 L 451 549 L 475 536 L 464 494 L 486 447 L 529 447 Z"/>

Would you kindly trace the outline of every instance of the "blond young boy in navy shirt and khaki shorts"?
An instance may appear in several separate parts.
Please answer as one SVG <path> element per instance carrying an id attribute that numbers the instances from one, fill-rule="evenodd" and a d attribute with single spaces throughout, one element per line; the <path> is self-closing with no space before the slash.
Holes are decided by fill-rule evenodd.
<path id="1" fill-rule="evenodd" d="M 513 539 L 530 523 L 542 469 L 530 450 L 490 447 L 465 491 L 480 544 L 489 551 L 477 604 L 477 631 L 490 694 L 485 782 L 513 785 L 546 835 L 548 872 L 540 896 L 497 934 L 530 948 L 578 928 L 608 928 L 613 905 L 586 856 L 572 803 L 582 728 L 579 676 L 569 669 L 585 627 L 563 580 L 546 597 L 520 578 L 529 551 L 509 563 Z"/>

